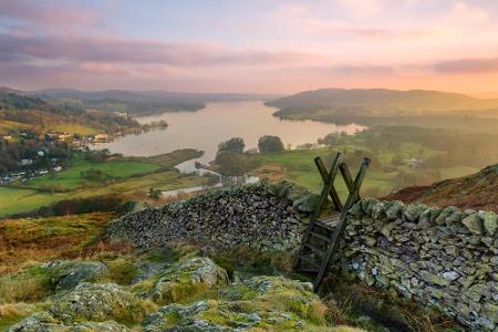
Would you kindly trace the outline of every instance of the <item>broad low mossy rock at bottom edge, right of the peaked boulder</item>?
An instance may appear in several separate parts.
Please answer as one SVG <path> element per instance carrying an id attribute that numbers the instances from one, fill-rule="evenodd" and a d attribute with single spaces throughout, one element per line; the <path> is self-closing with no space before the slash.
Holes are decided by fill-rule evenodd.
<path id="1" fill-rule="evenodd" d="M 255 277 L 222 289 L 217 300 L 165 305 L 149 314 L 143 326 L 149 332 L 293 331 L 324 328 L 324 312 L 311 284 L 283 277 Z"/>

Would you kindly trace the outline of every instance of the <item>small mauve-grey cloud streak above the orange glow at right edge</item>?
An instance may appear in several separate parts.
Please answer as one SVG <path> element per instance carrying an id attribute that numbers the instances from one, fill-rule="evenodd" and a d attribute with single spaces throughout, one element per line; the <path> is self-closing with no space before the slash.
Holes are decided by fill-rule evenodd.
<path id="1" fill-rule="evenodd" d="M 442 61 L 432 68 L 439 73 L 496 73 L 498 72 L 498 58 Z"/>

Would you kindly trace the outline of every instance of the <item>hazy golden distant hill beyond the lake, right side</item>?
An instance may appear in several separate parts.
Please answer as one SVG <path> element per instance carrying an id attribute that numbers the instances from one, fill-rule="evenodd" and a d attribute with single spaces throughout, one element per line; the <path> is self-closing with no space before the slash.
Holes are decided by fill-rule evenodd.
<path id="1" fill-rule="evenodd" d="M 281 110 L 333 110 L 371 114 L 426 113 L 498 108 L 497 100 L 478 100 L 464 94 L 427 90 L 320 89 L 268 102 Z"/>

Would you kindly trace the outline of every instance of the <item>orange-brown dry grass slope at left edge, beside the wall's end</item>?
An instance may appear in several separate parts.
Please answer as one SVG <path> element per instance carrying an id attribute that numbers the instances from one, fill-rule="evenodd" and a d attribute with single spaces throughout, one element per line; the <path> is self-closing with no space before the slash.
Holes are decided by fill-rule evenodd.
<path id="1" fill-rule="evenodd" d="M 113 214 L 8 219 L 0 222 L 0 276 L 34 262 L 79 258 Z M 95 252 L 113 248 L 95 248 Z"/>

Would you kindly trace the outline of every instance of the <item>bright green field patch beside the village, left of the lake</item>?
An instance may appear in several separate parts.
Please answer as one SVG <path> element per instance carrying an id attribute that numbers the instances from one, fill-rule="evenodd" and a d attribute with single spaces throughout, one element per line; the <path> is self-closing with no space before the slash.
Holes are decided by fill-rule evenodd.
<path id="1" fill-rule="evenodd" d="M 92 163 L 81 157 L 71 160 L 68 169 L 56 173 L 54 176 L 43 176 L 23 184 L 33 189 L 74 190 L 85 187 L 102 186 L 98 181 L 89 181 L 81 176 L 82 172 L 98 169 L 112 179 L 121 179 L 131 176 L 149 174 L 159 168 L 152 163 L 139 163 L 132 160 L 110 160 L 104 163 Z"/>

